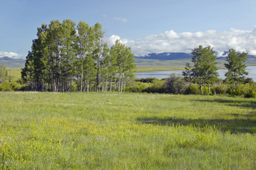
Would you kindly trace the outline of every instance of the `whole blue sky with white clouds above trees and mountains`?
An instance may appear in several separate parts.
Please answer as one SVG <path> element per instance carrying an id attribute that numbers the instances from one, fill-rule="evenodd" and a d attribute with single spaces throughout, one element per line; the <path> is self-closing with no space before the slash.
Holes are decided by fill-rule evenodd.
<path id="1" fill-rule="evenodd" d="M 101 23 L 136 56 L 210 45 L 256 55 L 255 0 L 0 0 L 0 57 L 26 58 L 37 28 L 51 20 Z"/>

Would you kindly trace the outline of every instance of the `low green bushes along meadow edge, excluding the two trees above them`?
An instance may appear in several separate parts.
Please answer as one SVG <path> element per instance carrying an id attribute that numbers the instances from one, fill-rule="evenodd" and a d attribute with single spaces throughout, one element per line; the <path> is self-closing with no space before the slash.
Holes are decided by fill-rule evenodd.
<path id="1" fill-rule="evenodd" d="M 216 79 L 210 84 L 202 86 L 203 94 L 223 96 L 245 96 L 256 98 L 256 83 L 252 78 L 240 81 L 236 91 L 233 84 L 225 83 L 223 79 Z M 127 88 L 129 92 L 152 94 L 196 94 L 201 95 L 201 86 L 196 82 L 188 82 L 181 75 L 171 74 L 166 79 L 146 78 L 135 79 L 133 86 Z"/>

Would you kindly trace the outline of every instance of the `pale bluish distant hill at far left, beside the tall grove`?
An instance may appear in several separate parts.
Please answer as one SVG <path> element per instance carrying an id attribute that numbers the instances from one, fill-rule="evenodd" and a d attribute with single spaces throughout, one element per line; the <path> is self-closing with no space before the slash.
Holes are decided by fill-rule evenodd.
<path id="1" fill-rule="evenodd" d="M 4 64 L 7 68 L 23 68 L 25 66 L 25 60 L 0 57 L 0 65 L 1 64 Z"/>

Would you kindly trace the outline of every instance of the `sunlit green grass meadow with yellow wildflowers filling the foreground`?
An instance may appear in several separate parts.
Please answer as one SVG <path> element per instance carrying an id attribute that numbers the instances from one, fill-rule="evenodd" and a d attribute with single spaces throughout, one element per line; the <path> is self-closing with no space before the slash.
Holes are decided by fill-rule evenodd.
<path id="1" fill-rule="evenodd" d="M 256 101 L 0 92 L 1 169 L 256 169 Z"/>

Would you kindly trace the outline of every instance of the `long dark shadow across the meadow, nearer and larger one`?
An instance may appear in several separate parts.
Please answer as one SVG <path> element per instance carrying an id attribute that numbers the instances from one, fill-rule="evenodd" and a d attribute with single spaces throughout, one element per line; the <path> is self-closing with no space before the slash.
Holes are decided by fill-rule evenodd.
<path id="1" fill-rule="evenodd" d="M 151 124 L 151 125 L 183 125 L 183 126 L 193 126 L 195 128 L 210 128 L 215 127 L 222 132 L 230 133 L 254 133 L 256 128 L 256 120 L 250 119 L 183 119 L 183 118 L 137 118 L 139 123 Z"/>

